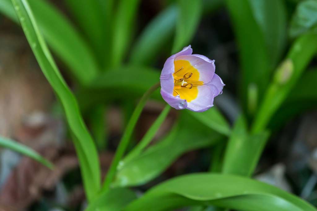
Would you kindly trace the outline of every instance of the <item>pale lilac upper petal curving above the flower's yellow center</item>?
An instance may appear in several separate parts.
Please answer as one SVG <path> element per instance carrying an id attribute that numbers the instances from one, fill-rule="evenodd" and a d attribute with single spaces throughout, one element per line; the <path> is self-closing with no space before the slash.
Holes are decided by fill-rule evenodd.
<path id="1" fill-rule="evenodd" d="M 204 83 L 210 82 L 212 79 L 212 76 L 215 73 L 215 65 L 214 65 L 214 62 L 211 60 L 210 60 L 211 62 L 209 62 L 209 61 L 206 61 L 206 60 L 204 60 L 198 56 L 195 56 L 195 55 L 181 55 L 181 56 L 176 57 L 175 61 L 177 61 L 177 60 L 189 61 L 191 63 L 191 65 L 195 69 L 198 70 L 199 80 L 203 81 Z"/>

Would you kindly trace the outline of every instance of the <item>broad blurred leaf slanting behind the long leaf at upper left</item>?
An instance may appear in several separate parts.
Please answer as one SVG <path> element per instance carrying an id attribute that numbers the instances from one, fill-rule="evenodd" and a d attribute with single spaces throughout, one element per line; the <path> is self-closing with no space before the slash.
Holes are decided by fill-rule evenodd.
<path id="1" fill-rule="evenodd" d="M 18 21 L 12 15 L 14 10 L 10 0 L 1 0 L 0 10 L 5 10 L 9 18 Z M 63 61 L 82 85 L 87 85 L 96 75 L 98 65 L 88 47 L 72 24 L 58 10 L 45 0 L 29 0 L 30 7 L 38 21 L 49 46 L 61 61 Z M 9 5 L 12 8 L 9 9 Z"/>

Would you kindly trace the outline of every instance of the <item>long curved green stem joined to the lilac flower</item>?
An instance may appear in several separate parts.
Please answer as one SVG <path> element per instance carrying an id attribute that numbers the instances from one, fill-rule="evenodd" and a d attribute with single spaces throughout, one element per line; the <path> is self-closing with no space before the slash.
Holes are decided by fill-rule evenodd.
<path id="1" fill-rule="evenodd" d="M 113 181 L 113 178 L 115 176 L 116 170 L 117 170 L 117 166 L 124 154 L 124 152 L 126 151 L 126 148 L 129 144 L 130 141 L 130 137 L 132 135 L 133 129 L 139 119 L 139 116 L 143 110 L 143 107 L 147 101 L 147 99 L 150 97 L 150 95 L 160 86 L 159 83 L 155 84 L 154 86 L 152 86 L 149 90 L 146 91 L 146 93 L 144 93 L 144 95 L 142 96 L 142 98 L 139 101 L 139 104 L 137 105 L 137 107 L 135 108 L 130 121 L 128 122 L 128 125 L 126 126 L 126 130 L 123 133 L 123 136 L 120 140 L 120 144 L 117 148 L 117 151 L 113 157 L 113 161 L 111 163 L 111 166 L 108 170 L 107 176 L 106 176 L 106 180 L 103 183 L 103 187 L 102 187 L 102 191 L 105 191 L 107 189 L 109 189 L 110 183 Z"/>

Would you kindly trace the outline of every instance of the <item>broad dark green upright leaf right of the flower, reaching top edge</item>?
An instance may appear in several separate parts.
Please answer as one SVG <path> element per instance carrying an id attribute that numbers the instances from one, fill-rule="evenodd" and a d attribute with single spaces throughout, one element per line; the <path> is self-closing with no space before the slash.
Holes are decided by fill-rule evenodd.
<path id="1" fill-rule="evenodd" d="M 255 86 L 258 104 L 285 44 L 285 8 L 282 1 L 226 0 L 226 3 L 240 49 L 241 102 L 245 112 L 253 115 L 257 105 L 247 107 L 248 90 Z"/>

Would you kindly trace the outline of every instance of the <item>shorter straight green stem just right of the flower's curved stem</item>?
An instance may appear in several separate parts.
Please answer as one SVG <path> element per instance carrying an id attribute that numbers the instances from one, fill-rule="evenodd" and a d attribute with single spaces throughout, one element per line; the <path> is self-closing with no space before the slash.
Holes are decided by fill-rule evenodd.
<path id="1" fill-rule="evenodd" d="M 171 110 L 170 105 L 166 105 L 164 110 L 160 113 L 159 117 L 155 120 L 152 124 L 150 129 L 146 132 L 144 137 L 141 139 L 138 145 L 136 145 L 131 152 L 124 158 L 124 163 L 132 160 L 134 157 L 138 156 L 142 150 L 150 144 L 153 137 L 155 136 L 156 132 L 159 130 L 160 126 L 162 125 L 163 121 L 165 120 L 168 112 Z"/>

